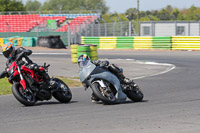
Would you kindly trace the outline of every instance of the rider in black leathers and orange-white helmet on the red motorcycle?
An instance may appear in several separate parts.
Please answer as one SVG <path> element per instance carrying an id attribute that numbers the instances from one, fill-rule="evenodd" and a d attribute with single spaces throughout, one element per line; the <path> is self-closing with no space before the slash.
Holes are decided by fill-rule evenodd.
<path id="1" fill-rule="evenodd" d="M 32 54 L 31 50 L 25 49 L 23 47 L 17 48 L 15 50 L 15 46 L 11 43 L 5 43 L 2 46 L 2 53 L 4 57 L 6 57 L 8 60 L 6 62 L 6 66 L 9 67 L 9 64 L 13 61 L 18 61 L 18 65 L 25 65 L 29 69 L 34 70 L 39 73 L 42 77 L 45 78 L 47 83 L 49 84 L 49 88 L 53 88 L 55 86 L 55 81 L 50 80 L 49 75 L 46 73 L 43 67 L 38 66 L 37 64 L 33 63 L 32 60 L 29 59 L 29 55 Z M 35 91 L 38 89 L 35 87 L 32 87 Z"/>

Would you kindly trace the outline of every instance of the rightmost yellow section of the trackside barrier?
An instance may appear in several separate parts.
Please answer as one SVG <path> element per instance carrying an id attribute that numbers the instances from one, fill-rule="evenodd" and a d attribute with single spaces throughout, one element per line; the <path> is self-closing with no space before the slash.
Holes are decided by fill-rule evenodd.
<path id="1" fill-rule="evenodd" d="M 172 36 L 172 50 L 200 50 L 200 36 Z"/>

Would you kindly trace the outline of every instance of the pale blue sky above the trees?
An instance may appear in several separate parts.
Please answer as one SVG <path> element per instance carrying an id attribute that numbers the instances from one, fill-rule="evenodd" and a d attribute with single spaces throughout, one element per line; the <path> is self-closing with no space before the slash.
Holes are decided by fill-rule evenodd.
<path id="1" fill-rule="evenodd" d="M 26 3 L 27 0 L 22 0 Z M 46 0 L 38 0 L 44 3 Z M 109 12 L 124 13 L 128 8 L 137 8 L 137 0 L 105 0 L 106 5 L 110 7 Z M 146 10 L 159 10 L 167 5 L 174 8 L 184 9 L 192 5 L 200 7 L 200 0 L 139 0 L 139 9 Z"/>

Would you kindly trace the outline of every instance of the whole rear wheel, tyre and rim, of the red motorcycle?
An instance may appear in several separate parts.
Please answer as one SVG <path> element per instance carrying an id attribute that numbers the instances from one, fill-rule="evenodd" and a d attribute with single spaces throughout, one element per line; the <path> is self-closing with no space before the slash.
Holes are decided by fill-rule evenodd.
<path id="1" fill-rule="evenodd" d="M 72 93 L 69 87 L 60 79 L 54 78 L 53 80 L 57 83 L 57 91 L 53 93 L 53 96 L 56 100 L 61 103 L 68 103 L 72 99 Z"/>

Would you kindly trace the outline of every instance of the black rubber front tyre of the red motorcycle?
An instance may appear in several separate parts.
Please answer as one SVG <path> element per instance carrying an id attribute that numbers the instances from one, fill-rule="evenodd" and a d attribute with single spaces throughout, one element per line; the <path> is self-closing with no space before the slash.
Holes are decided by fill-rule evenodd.
<path id="1" fill-rule="evenodd" d="M 34 97 L 33 101 L 27 101 L 19 92 L 19 83 L 15 83 L 12 85 L 12 93 L 14 97 L 23 105 L 25 106 L 33 106 L 35 105 L 36 99 Z"/>

